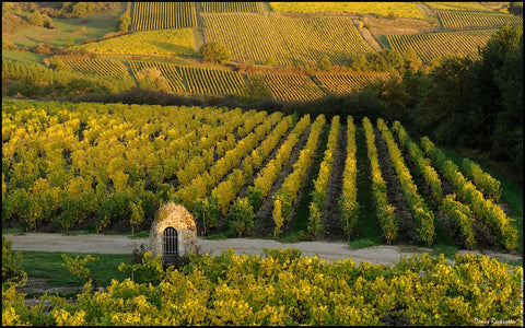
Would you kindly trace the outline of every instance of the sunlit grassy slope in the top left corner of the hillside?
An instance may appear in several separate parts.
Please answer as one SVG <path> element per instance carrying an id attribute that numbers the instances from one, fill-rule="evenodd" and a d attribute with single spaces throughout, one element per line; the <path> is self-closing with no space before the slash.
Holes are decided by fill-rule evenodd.
<path id="1" fill-rule="evenodd" d="M 85 38 L 100 38 L 109 32 L 116 32 L 116 21 L 126 11 L 126 2 L 112 10 L 97 12 L 83 19 L 51 17 L 55 28 L 28 25 L 13 34 L 2 35 L 4 39 L 16 45 L 34 47 L 39 43 L 65 46 L 66 38 L 72 36 L 74 44 Z M 2 50 L 3 52 L 3 50 Z"/>

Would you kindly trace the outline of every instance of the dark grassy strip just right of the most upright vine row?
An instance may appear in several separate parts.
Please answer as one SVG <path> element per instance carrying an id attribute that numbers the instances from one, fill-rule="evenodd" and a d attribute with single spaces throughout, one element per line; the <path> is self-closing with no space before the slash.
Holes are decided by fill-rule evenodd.
<path id="1" fill-rule="evenodd" d="M 355 144 L 358 148 L 355 153 L 358 161 L 358 202 L 361 208 L 355 227 L 358 237 L 350 241 L 350 246 L 353 248 L 362 248 L 381 245 L 381 232 L 378 226 L 375 225 L 377 220 L 372 202 L 372 183 L 368 168 L 370 167 L 370 163 L 368 163 L 364 129 L 362 127 L 355 127 Z"/>

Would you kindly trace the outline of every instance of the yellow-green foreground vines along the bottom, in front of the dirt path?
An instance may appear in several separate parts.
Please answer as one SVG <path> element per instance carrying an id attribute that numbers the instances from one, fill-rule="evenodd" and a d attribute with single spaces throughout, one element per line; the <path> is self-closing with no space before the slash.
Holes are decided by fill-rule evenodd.
<path id="1" fill-rule="evenodd" d="M 424 254 L 393 267 L 329 262 L 293 248 L 191 257 L 182 270 L 164 271 L 151 255 L 145 261 L 156 282 L 113 280 L 93 292 L 89 282 L 73 304 L 47 297 L 46 312 L 11 288 L 2 325 L 523 325 L 523 268 L 479 255 L 451 263 Z"/>

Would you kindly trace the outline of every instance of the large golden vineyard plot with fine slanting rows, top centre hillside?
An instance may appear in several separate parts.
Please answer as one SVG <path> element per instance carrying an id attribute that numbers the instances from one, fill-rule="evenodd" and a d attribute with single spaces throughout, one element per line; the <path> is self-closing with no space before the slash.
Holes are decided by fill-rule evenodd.
<path id="1" fill-rule="evenodd" d="M 342 63 L 372 51 L 349 17 L 295 19 L 250 13 L 202 14 L 205 39 L 224 44 L 233 59 L 255 63 Z"/>

